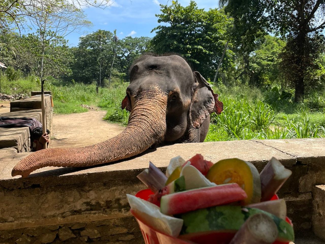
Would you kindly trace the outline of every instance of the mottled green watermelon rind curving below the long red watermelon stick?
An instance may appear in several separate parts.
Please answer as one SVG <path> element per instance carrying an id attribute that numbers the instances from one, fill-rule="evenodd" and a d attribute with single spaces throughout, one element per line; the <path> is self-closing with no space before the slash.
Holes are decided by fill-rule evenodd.
<path id="1" fill-rule="evenodd" d="M 289 223 L 271 213 L 255 208 L 243 208 L 240 206 L 216 206 L 191 211 L 175 217 L 184 220 L 180 235 L 185 235 L 214 230 L 237 231 L 250 216 L 257 213 L 264 213 L 273 219 L 279 231 L 277 240 L 294 241 L 293 228 Z"/>

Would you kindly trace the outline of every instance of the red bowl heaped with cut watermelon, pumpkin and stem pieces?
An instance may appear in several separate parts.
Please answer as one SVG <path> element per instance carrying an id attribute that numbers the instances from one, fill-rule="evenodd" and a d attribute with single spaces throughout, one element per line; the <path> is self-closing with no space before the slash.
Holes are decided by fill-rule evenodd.
<path id="1" fill-rule="evenodd" d="M 276 193 L 291 174 L 275 158 L 259 174 L 238 158 L 213 164 L 200 154 L 177 156 L 166 174 L 150 162 L 138 175 L 148 189 L 127 197 L 140 228 L 156 233 L 150 244 L 284 244 L 294 232 Z"/>

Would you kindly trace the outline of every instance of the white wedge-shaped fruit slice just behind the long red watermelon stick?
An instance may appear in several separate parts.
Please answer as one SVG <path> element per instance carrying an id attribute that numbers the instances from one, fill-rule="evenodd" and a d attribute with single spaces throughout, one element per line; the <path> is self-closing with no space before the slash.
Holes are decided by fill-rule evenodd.
<path id="1" fill-rule="evenodd" d="M 186 190 L 216 186 L 215 183 L 209 181 L 197 168 L 190 164 L 186 164 L 182 168 L 180 175 L 185 177 Z"/>

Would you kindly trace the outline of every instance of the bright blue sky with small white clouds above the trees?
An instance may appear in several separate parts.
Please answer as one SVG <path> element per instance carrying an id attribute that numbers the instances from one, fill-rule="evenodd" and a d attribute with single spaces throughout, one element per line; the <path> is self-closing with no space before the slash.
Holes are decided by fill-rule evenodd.
<path id="1" fill-rule="evenodd" d="M 116 0 L 110 7 L 105 9 L 88 7 L 85 14 L 88 20 L 93 23 L 92 27 L 83 28 L 78 33 L 71 33 L 66 36 L 69 46 L 77 46 L 81 35 L 89 34 L 98 29 L 113 32 L 117 29 L 117 36 L 122 39 L 125 36 L 149 36 L 155 34 L 150 31 L 158 25 L 155 14 L 160 13 L 161 4 L 167 4 L 168 0 Z M 170 2 L 168 5 L 170 5 Z M 190 0 L 179 0 L 183 6 L 187 6 Z M 199 8 L 217 7 L 217 0 L 197 0 Z"/>

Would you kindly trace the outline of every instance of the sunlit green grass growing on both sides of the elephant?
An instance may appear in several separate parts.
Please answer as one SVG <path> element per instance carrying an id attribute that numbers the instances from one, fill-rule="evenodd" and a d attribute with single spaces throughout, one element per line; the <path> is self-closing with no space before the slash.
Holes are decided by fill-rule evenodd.
<path id="1" fill-rule="evenodd" d="M 54 112 L 58 114 L 88 111 L 81 104 L 98 106 L 107 113 L 104 120 L 126 126 L 129 112 L 121 109 L 128 84 L 114 83 L 111 88 L 95 85 L 62 84 L 48 77 L 45 89 L 53 94 Z M 2 92 L 7 94 L 40 90 L 33 76 L 8 81 L 2 77 Z M 259 88 L 220 86 L 214 91 L 224 103 L 221 115 L 211 115 L 211 125 L 205 141 L 286 139 L 325 137 L 325 93 L 311 91 L 305 103 L 296 104 L 288 92 L 277 88 L 261 91 Z"/>

